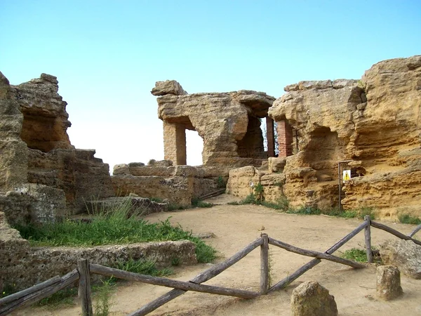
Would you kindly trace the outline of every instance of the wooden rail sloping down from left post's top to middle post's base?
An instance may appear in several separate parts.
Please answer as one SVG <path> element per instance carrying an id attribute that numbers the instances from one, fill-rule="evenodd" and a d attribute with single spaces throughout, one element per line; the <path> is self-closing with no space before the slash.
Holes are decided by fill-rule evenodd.
<path id="1" fill-rule="evenodd" d="M 128 281 L 140 281 L 147 284 L 160 285 L 161 287 L 173 287 L 185 291 L 196 291 L 210 294 L 219 294 L 225 296 L 236 296 L 240 298 L 253 298 L 259 296 L 258 292 L 244 291 L 238 289 L 228 289 L 226 287 L 215 287 L 211 285 L 196 284 L 191 282 L 183 282 L 175 279 L 167 279 L 165 277 L 152 277 L 150 275 L 139 275 L 138 273 L 127 272 L 119 269 L 108 268 L 103 265 L 90 266 L 91 272 L 98 275 L 106 275 L 107 277 L 117 277 L 119 279 L 127 279 Z"/>

